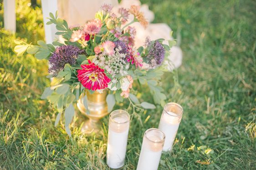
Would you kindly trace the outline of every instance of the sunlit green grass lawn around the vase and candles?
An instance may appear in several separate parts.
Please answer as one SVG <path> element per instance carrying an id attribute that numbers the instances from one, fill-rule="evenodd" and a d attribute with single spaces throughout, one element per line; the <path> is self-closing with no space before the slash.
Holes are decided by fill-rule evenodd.
<path id="1" fill-rule="evenodd" d="M 0 29 L 0 170 L 109 169 L 108 117 L 100 133 L 81 136 L 85 118 L 77 112 L 70 139 L 63 123 L 54 127 L 56 109 L 40 99 L 50 85 L 47 62 L 13 52 L 14 39 L 44 38 L 41 9 L 28 2 L 16 0 L 16 34 Z M 154 11 L 155 23 L 169 24 L 180 37 L 184 54 L 179 84 L 173 73 L 163 76 L 168 101 L 180 103 L 184 115 L 159 170 L 256 170 L 256 1 L 142 2 Z M 150 98 L 145 90 L 140 100 Z M 143 133 L 158 126 L 162 109 L 138 112 L 142 123 L 133 117 L 123 169 L 136 169 Z"/>

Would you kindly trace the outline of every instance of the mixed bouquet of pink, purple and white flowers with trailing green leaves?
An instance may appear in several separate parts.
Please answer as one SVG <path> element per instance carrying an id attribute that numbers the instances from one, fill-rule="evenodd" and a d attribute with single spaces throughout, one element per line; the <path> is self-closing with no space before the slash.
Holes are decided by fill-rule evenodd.
<path id="1" fill-rule="evenodd" d="M 47 87 L 41 98 L 50 100 L 57 107 L 59 114 L 56 124 L 61 113 L 65 112 L 65 126 L 69 135 L 68 125 L 74 115 L 72 103 L 82 93 L 109 89 L 109 112 L 116 102 L 123 102 L 125 98 L 131 102 L 133 112 L 135 108 L 154 109 L 151 103 L 139 102 L 133 89 L 133 83 L 137 81 L 148 85 L 155 103 L 164 105 L 166 97 L 159 87 L 159 81 L 167 71 L 164 60 L 169 55 L 170 46 L 175 44 L 174 40 L 166 45 L 163 44 L 164 39 L 151 41 L 147 38 L 144 46 L 137 49 L 134 47 L 136 30 L 130 25 L 139 22 L 146 27 L 148 24 L 139 6 L 120 8 L 118 14 L 114 14 L 112 8 L 111 5 L 102 5 L 95 19 L 78 27 L 69 27 L 65 20 L 57 18 L 57 12 L 55 16 L 50 13 L 47 24 L 56 24 L 56 35 L 61 35 L 64 39 L 62 43 L 56 40 L 52 44 L 45 44 L 40 40 L 37 45 L 32 45 L 15 40 L 18 56 L 27 52 L 35 54 L 38 59 L 47 59 L 49 77 L 60 79 L 59 84 Z M 127 24 L 129 13 L 134 19 Z"/>

